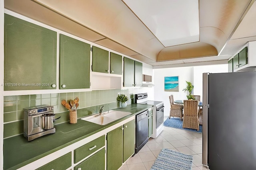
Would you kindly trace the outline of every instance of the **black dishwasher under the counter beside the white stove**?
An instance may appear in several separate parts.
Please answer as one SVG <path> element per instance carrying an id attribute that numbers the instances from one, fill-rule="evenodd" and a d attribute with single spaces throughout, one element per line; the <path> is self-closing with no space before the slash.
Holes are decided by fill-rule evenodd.
<path id="1" fill-rule="evenodd" d="M 148 110 L 136 115 L 136 147 L 135 153 L 148 142 Z"/>

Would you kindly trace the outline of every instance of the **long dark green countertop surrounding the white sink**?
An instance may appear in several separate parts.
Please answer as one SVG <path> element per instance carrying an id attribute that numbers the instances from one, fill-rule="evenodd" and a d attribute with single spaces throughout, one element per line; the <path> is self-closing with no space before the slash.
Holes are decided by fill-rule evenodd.
<path id="1" fill-rule="evenodd" d="M 78 119 L 76 124 L 65 122 L 54 125 L 56 133 L 45 135 L 29 142 L 23 135 L 4 139 L 4 170 L 12 170 L 25 166 L 26 164 L 38 160 L 48 154 L 76 143 L 77 141 L 106 129 L 107 127 L 149 109 L 150 107 L 152 106 L 131 104 L 127 105 L 126 108 L 114 109 L 130 112 L 132 114 L 106 125 L 98 125 L 88 121 L 83 121 L 81 119 Z"/>

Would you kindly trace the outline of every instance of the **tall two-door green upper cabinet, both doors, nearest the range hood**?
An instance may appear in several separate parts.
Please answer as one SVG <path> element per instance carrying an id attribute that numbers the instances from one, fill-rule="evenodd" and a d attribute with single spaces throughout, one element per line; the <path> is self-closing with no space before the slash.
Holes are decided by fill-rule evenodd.
<path id="1" fill-rule="evenodd" d="M 142 86 L 142 63 L 124 57 L 124 87 Z"/>

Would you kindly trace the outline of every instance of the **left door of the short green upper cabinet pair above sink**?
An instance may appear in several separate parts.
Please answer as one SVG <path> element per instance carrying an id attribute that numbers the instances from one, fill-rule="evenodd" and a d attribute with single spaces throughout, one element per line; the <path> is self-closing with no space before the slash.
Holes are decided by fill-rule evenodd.
<path id="1" fill-rule="evenodd" d="M 109 73 L 108 51 L 92 46 L 92 71 Z"/>

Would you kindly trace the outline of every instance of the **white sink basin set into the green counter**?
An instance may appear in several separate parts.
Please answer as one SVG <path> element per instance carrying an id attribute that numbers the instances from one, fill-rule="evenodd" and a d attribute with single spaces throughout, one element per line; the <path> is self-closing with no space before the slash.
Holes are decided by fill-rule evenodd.
<path id="1" fill-rule="evenodd" d="M 92 116 L 83 117 L 81 119 L 84 121 L 96 123 L 98 125 L 106 125 L 112 121 L 115 121 L 117 119 L 120 119 L 120 118 L 122 118 L 126 115 L 130 115 L 130 114 L 131 113 L 129 113 L 129 112 L 110 110 L 109 112 L 108 111 L 102 112 L 102 115 L 100 115 L 100 116 L 97 116 L 98 115 L 97 114 L 96 116 L 92 115 Z"/>

